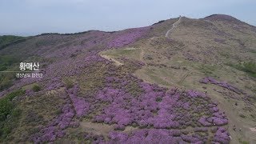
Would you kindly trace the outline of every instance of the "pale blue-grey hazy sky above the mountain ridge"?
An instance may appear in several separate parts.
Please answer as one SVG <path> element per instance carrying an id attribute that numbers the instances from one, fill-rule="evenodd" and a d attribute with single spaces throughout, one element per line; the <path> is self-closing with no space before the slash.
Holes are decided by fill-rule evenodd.
<path id="1" fill-rule="evenodd" d="M 0 0 L 0 34 L 112 31 L 210 14 L 256 26 L 256 0 Z"/>

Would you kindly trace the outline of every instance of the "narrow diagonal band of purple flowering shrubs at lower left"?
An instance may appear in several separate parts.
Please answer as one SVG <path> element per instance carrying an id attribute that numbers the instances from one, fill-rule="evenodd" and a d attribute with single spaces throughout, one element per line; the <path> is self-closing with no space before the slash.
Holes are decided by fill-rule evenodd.
<path id="1" fill-rule="evenodd" d="M 78 118 L 84 116 L 90 109 L 89 103 L 85 99 L 78 97 L 78 85 L 66 90 L 67 96 L 62 96 L 66 100 L 66 105 L 62 107 L 62 114 L 54 118 L 50 124 L 42 128 L 37 134 L 34 134 L 31 139 L 34 143 L 53 142 L 57 138 L 62 138 L 68 126 L 78 127 L 78 122 L 74 122 L 73 118 L 76 114 Z M 69 99 L 71 101 L 69 101 Z"/>

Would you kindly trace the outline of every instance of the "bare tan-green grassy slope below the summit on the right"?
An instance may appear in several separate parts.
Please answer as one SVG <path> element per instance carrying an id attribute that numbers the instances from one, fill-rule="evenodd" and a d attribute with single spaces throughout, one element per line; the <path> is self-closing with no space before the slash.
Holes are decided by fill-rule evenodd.
<path id="1" fill-rule="evenodd" d="M 123 50 L 106 50 L 102 54 L 119 59 L 120 62 L 122 57 L 145 62 L 146 66 L 137 70 L 135 74 L 146 82 L 168 88 L 178 86 L 207 91 L 215 101 L 220 102 L 222 110 L 225 110 L 230 118 L 232 142 L 238 142 L 239 138 L 253 142 L 254 133 L 249 128 L 256 122 L 254 100 L 253 105 L 246 106 L 243 100 L 246 96 L 223 90 L 219 86 L 202 85 L 198 82 L 201 78 L 211 76 L 229 82 L 256 98 L 256 82 L 251 78 L 255 74 L 256 55 L 251 51 L 256 47 L 256 34 L 247 27 L 242 30 L 235 27 L 232 23 L 230 26 L 230 23 L 226 22 L 183 18 L 180 26 L 170 34 L 172 42 L 166 42 L 166 38 L 160 36 L 135 43 L 137 49 L 134 50 L 127 50 L 129 47 L 126 47 Z M 215 33 L 216 31 L 218 33 Z M 243 34 L 244 32 L 246 34 Z M 223 40 L 218 41 L 216 38 Z M 243 64 L 234 68 L 227 66 L 227 62 L 236 66 L 241 62 Z M 237 99 L 225 93 L 230 93 Z M 236 102 L 238 106 L 234 105 Z M 242 133 L 232 130 L 234 125 L 241 128 Z"/>

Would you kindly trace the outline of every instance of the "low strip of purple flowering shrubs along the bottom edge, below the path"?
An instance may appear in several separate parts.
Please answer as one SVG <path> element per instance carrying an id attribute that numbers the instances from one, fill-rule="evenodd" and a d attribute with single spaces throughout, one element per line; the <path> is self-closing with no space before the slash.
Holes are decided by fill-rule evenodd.
<path id="1" fill-rule="evenodd" d="M 198 134 L 186 135 L 179 130 L 143 129 L 134 130 L 131 134 L 111 131 L 110 143 L 205 143 L 206 137 Z"/>

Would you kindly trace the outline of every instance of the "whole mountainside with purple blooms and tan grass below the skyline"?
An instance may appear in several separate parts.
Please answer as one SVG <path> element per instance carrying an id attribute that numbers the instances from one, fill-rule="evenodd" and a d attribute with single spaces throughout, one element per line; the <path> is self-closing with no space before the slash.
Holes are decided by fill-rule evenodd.
<path id="1" fill-rule="evenodd" d="M 38 62 L 42 78 L 0 74 L 0 142 L 256 142 L 256 28 L 178 19 L 2 46 L 2 71 Z"/>

